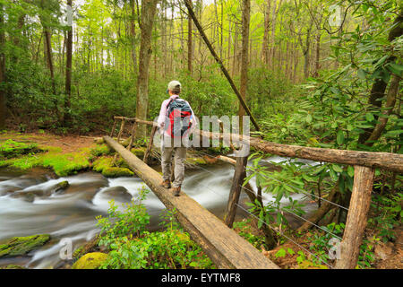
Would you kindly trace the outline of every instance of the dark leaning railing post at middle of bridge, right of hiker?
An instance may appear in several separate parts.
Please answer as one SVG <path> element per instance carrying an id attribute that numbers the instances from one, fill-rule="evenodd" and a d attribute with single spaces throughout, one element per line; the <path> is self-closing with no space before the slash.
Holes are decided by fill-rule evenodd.
<path id="1" fill-rule="evenodd" d="M 239 195 L 241 194 L 242 185 L 244 184 L 244 178 L 246 176 L 246 164 L 248 157 L 236 158 L 236 170 L 234 178 L 232 180 L 232 187 L 229 191 L 225 223 L 229 228 L 232 228 L 236 216 L 236 204 L 239 201 Z"/>

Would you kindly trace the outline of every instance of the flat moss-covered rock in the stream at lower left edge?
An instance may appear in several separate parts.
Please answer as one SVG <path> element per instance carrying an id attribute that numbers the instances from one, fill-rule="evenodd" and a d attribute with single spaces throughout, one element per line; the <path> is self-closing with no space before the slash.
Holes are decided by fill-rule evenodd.
<path id="1" fill-rule="evenodd" d="M 27 254 L 31 250 L 43 246 L 49 239 L 49 234 L 5 239 L 0 242 L 0 257 L 14 257 Z"/>

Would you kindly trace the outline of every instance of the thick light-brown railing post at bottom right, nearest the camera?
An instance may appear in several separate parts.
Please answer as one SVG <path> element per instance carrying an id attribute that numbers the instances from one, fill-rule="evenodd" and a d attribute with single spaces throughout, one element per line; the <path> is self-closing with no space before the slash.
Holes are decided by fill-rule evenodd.
<path id="1" fill-rule="evenodd" d="M 355 166 L 354 186 L 348 208 L 346 229 L 340 244 L 340 258 L 336 263 L 338 269 L 356 268 L 371 203 L 373 174 L 373 168 Z"/>

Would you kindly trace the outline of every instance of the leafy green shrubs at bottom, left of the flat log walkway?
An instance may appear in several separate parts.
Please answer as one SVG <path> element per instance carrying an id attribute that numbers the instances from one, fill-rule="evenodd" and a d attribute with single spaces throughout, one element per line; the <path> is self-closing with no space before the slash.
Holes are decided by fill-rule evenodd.
<path id="1" fill-rule="evenodd" d="M 149 232 L 150 222 L 141 200 L 146 195 L 141 190 L 139 202 L 127 205 L 120 212 L 111 202 L 108 217 L 98 217 L 101 227 L 99 245 L 107 246 L 109 257 L 101 266 L 109 269 L 161 269 L 161 268 L 212 268 L 210 258 L 202 253 L 187 233 L 175 221 L 175 211 L 162 214 L 162 225 L 167 230 Z"/>

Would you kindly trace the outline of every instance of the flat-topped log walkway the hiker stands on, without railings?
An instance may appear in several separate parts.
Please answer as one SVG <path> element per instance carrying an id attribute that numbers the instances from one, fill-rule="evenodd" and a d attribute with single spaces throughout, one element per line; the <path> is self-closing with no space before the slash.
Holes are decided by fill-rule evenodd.
<path id="1" fill-rule="evenodd" d="M 167 209 L 176 209 L 176 219 L 184 230 L 189 232 L 204 252 L 219 268 L 244 269 L 279 269 L 268 258 L 254 248 L 249 242 L 241 238 L 235 230 L 229 229 L 224 222 L 210 213 L 191 197 L 181 192 L 176 197 L 164 187 L 160 187 L 162 180 L 156 170 L 137 158 L 132 152 L 116 143 L 110 136 L 104 136 L 105 142 L 118 152 L 124 161 L 154 192 Z"/>

